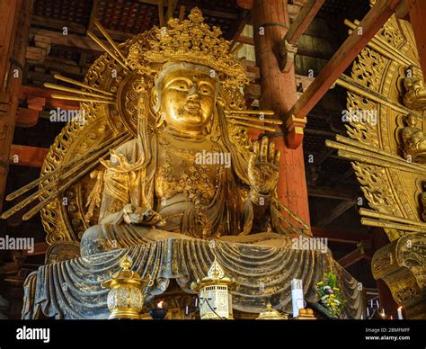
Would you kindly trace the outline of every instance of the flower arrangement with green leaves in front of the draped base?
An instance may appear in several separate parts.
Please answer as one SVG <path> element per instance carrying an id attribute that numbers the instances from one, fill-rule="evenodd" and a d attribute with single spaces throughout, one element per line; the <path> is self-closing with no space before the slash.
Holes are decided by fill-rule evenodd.
<path id="1" fill-rule="evenodd" d="M 342 300 L 340 289 L 337 287 L 336 274 L 324 273 L 324 281 L 316 282 L 315 291 L 330 315 L 339 317 L 346 302 Z"/>

